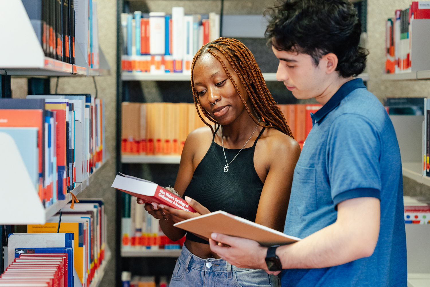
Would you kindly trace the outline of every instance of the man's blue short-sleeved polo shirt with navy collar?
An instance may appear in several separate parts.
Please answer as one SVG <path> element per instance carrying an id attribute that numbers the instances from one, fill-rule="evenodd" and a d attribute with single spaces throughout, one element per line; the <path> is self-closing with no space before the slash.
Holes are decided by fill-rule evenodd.
<path id="1" fill-rule="evenodd" d="M 336 221 L 338 203 L 381 202 L 372 256 L 319 269 L 286 269 L 282 286 L 405 287 L 402 165 L 390 117 L 361 79 L 351 80 L 315 114 L 294 170 L 284 233 L 305 238 Z"/>

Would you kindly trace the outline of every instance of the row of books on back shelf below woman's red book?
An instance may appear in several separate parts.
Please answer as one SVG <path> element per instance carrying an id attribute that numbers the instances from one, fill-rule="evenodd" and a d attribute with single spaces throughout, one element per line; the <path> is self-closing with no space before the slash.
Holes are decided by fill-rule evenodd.
<path id="1" fill-rule="evenodd" d="M 123 250 L 180 249 L 185 237 L 178 241 L 170 240 L 161 230 L 158 219 L 150 215 L 143 204 L 138 204 L 134 196 L 124 197 L 130 205 L 125 217 L 121 219 L 121 248 Z M 123 200 L 124 200 L 123 199 Z"/>

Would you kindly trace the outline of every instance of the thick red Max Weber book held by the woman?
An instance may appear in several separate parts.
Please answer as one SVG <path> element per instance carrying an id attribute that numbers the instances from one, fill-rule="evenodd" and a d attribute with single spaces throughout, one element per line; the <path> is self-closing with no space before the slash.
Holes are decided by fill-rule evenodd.
<path id="1" fill-rule="evenodd" d="M 187 204 L 187 201 L 173 194 L 157 183 L 146 179 L 139 179 L 134 176 L 122 174 L 115 177 L 112 187 L 126 192 L 137 198 L 143 199 L 146 203 L 155 202 L 157 204 L 166 204 L 169 207 L 181 209 L 190 212 L 196 212 L 193 207 Z"/>

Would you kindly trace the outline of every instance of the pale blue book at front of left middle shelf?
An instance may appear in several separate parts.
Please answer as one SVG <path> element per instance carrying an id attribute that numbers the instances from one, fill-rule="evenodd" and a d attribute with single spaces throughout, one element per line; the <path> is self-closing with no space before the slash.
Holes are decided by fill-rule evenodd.
<path id="1" fill-rule="evenodd" d="M 0 127 L 0 133 L 7 133 L 15 141 L 36 192 L 39 185 L 37 130 L 37 127 Z"/>

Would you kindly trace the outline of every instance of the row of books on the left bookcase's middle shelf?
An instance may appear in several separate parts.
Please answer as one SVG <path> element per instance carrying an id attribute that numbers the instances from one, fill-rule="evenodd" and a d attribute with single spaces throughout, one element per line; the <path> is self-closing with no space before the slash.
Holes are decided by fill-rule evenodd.
<path id="1" fill-rule="evenodd" d="M 90 94 L 0 99 L 0 132 L 14 139 L 45 207 L 105 161 L 104 102 Z"/>

